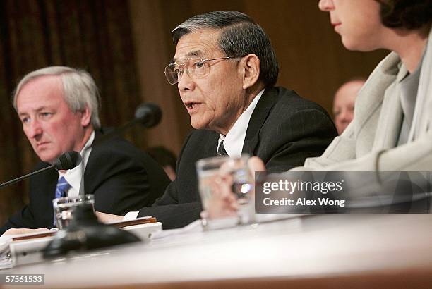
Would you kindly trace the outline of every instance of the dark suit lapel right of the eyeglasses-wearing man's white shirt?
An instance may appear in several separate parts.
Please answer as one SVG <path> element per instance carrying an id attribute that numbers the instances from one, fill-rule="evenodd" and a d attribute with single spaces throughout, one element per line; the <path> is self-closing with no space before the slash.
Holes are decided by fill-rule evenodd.
<path id="1" fill-rule="evenodd" d="M 266 88 L 258 104 L 253 110 L 251 119 L 246 130 L 243 149 L 241 152 L 253 155 L 259 141 L 259 132 L 265 119 L 268 117 L 270 110 L 277 102 L 277 90 L 275 88 Z"/>

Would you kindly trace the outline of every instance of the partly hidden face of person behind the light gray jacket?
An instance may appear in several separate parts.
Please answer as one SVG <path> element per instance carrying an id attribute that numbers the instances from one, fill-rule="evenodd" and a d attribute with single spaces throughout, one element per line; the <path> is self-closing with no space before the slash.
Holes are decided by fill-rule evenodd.
<path id="1" fill-rule="evenodd" d="M 337 133 L 341 135 L 354 118 L 354 104 L 357 93 L 363 87 L 366 78 L 352 78 L 341 85 L 333 98 L 333 119 Z"/>

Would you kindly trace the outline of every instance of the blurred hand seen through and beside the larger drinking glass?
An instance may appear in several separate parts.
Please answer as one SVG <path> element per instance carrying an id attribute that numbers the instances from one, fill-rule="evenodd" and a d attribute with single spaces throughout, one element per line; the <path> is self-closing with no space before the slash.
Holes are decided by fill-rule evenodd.
<path id="1" fill-rule="evenodd" d="M 265 171 L 263 161 L 257 156 L 248 160 L 248 168 L 251 176 L 254 176 L 256 171 Z M 232 192 L 232 184 L 233 180 L 229 169 L 222 165 L 218 175 L 211 182 L 212 198 L 208 203 L 207 211 L 203 212 L 203 216 L 208 217 L 208 219 L 236 216 L 239 205 L 236 195 Z M 250 194 L 253 196 L 255 191 L 251 191 Z"/>

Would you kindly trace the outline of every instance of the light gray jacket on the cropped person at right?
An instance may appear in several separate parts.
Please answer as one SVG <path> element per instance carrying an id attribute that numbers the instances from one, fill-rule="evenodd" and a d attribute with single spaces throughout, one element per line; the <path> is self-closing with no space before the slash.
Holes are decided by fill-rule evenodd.
<path id="1" fill-rule="evenodd" d="M 429 33 L 431 39 L 432 30 Z M 397 75 L 406 73 L 400 57 L 390 53 L 358 94 L 354 121 L 322 156 L 306 159 L 301 171 L 431 171 L 432 43 L 424 54 L 414 123 L 409 142 L 397 147 L 402 124 Z M 378 178 L 376 180 L 378 182 Z"/>

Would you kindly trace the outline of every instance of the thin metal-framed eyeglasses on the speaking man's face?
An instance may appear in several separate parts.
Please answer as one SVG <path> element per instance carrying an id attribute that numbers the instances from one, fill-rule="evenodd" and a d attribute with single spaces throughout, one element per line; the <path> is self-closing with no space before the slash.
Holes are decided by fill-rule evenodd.
<path id="1" fill-rule="evenodd" d="M 226 56 L 217 59 L 201 59 L 196 57 L 193 59 L 184 59 L 178 63 L 169 63 L 165 67 L 165 76 L 170 85 L 175 85 L 179 82 L 181 75 L 186 71 L 191 78 L 203 78 L 210 73 L 210 65 L 207 63 L 212 60 L 227 60 L 227 59 L 239 59 L 241 56 Z"/>

